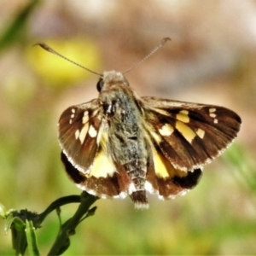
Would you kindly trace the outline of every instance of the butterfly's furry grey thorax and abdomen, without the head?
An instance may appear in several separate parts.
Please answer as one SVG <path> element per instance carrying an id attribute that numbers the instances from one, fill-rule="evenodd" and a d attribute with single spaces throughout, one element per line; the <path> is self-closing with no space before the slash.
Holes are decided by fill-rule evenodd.
<path id="1" fill-rule="evenodd" d="M 127 173 L 126 193 L 131 196 L 135 205 L 148 207 L 145 192 L 147 142 L 143 137 L 140 111 L 136 102 L 131 102 L 129 92 L 129 88 L 121 87 L 113 90 L 112 95 L 108 94 L 104 99 L 104 119 L 108 122 L 108 154 L 117 172 L 121 166 Z"/>

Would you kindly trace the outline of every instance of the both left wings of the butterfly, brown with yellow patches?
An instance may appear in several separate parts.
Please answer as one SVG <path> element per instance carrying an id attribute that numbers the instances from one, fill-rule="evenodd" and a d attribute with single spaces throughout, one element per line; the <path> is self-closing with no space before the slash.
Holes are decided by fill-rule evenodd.
<path id="1" fill-rule="evenodd" d="M 127 195 L 131 180 L 125 168 L 116 166 L 108 155 L 108 125 L 98 100 L 61 114 L 59 141 L 66 172 L 80 189 L 102 198 Z"/>

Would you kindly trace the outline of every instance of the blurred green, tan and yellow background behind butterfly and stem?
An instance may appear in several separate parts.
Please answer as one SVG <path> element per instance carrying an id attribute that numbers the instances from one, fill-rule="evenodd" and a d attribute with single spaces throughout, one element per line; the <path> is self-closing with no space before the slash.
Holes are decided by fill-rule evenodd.
<path id="1" fill-rule="evenodd" d="M 140 96 L 222 105 L 241 115 L 236 142 L 174 201 L 96 201 L 65 255 L 256 254 L 256 1 L 1 0 L 0 202 L 43 212 L 79 194 L 60 161 L 57 121 L 97 96 L 97 77 L 32 47 L 44 42 L 102 73 L 124 71 L 161 38 L 172 42 L 126 75 Z M 63 207 L 63 220 L 77 205 Z M 0 255 L 14 254 L 0 220 Z M 48 252 L 58 220 L 37 231 Z"/>

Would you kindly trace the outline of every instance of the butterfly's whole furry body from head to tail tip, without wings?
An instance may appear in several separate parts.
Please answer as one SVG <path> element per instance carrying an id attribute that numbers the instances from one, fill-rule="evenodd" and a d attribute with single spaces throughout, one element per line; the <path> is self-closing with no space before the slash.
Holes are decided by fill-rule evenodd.
<path id="1" fill-rule="evenodd" d="M 102 124 L 108 137 L 108 155 L 117 172 L 125 172 L 126 179 L 130 180 L 126 183 L 129 184 L 126 188 L 128 194 L 131 197 L 136 197 L 136 193 L 144 196 L 147 204 L 145 182 L 149 144 L 143 134 L 142 110 L 121 73 L 107 73 L 103 81 L 99 99 L 103 106 Z"/>

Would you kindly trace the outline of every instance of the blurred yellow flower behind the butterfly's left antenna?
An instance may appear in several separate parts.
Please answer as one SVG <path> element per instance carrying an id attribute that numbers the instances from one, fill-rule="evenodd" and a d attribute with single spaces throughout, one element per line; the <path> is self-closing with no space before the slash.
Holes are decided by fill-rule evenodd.
<path id="1" fill-rule="evenodd" d="M 89 38 L 61 38 L 47 40 L 44 43 L 68 59 L 101 73 L 101 55 L 93 40 Z M 50 86 L 67 86 L 92 75 L 83 68 L 52 55 L 39 46 L 27 49 L 26 55 L 35 72 Z"/>

